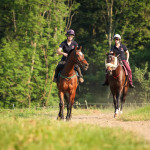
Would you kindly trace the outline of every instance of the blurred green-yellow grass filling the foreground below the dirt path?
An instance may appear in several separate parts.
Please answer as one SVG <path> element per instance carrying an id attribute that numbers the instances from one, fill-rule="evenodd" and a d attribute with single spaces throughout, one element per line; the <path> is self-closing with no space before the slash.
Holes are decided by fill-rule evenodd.
<path id="1" fill-rule="evenodd" d="M 94 113 L 83 110 L 82 113 Z M 98 110 L 99 111 L 99 110 Z M 77 113 L 78 112 L 78 113 Z M 138 136 L 119 128 L 102 128 L 56 120 L 57 111 L 1 110 L 1 150 L 149 150 Z M 75 110 L 74 114 L 80 114 Z"/>

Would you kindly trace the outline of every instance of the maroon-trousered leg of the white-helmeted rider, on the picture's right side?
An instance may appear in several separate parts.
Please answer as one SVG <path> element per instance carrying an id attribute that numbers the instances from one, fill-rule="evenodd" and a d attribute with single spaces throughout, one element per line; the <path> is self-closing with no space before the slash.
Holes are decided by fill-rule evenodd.
<path id="1" fill-rule="evenodd" d="M 133 81 L 132 81 L 132 71 L 131 71 L 131 68 L 130 68 L 130 65 L 129 63 L 126 61 L 126 60 L 122 60 L 127 71 L 128 71 L 128 76 L 129 76 L 129 85 L 131 88 L 135 88 L 135 86 L 133 85 Z"/>

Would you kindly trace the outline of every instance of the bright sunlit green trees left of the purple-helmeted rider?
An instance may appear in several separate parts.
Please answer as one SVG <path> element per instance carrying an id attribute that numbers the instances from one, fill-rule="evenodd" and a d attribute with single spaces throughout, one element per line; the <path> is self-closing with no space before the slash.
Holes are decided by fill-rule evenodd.
<path id="1" fill-rule="evenodd" d="M 60 58 L 55 51 L 64 39 L 65 19 L 70 11 L 65 3 L 65 0 L 0 2 L 1 107 L 55 103 L 57 90 L 52 79 Z"/>

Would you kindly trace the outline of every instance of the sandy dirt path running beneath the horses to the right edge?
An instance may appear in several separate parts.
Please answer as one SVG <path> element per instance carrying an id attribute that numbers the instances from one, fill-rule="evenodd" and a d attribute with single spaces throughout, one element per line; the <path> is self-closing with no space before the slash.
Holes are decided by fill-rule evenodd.
<path id="1" fill-rule="evenodd" d="M 72 117 L 73 122 L 95 124 L 101 127 L 121 127 L 132 131 L 150 142 L 150 121 L 120 121 L 113 118 L 113 113 L 96 113 Z"/>

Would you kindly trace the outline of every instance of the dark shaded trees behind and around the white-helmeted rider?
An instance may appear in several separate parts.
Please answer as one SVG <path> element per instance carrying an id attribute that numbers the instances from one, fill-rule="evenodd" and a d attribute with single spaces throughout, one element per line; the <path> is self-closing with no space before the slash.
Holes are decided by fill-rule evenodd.
<path id="1" fill-rule="evenodd" d="M 112 7 L 112 16 L 108 15 L 110 7 Z M 108 88 L 101 87 L 105 77 L 105 53 L 109 51 L 109 32 L 111 32 L 111 40 L 113 40 L 114 34 L 121 35 L 122 43 L 127 46 L 130 52 L 130 65 L 133 73 L 135 67 L 143 67 L 146 61 L 150 63 L 149 12 L 150 3 L 148 0 L 80 0 L 80 7 L 78 14 L 74 17 L 72 28 L 76 29 L 76 40 L 83 45 L 90 64 L 87 73 L 85 73 L 85 78 L 88 80 L 85 81 L 84 87 L 82 86 L 83 96 L 81 97 L 80 94 L 80 99 L 85 99 L 85 95 L 96 95 L 96 101 L 110 101 Z M 110 17 L 112 17 L 111 24 Z M 110 26 L 111 31 L 109 30 Z M 113 45 L 114 41 L 112 41 Z M 133 80 L 135 81 L 135 74 Z M 139 90 L 136 92 L 136 90 L 129 89 L 129 101 L 135 100 L 134 97 L 139 92 Z M 92 102 L 93 98 L 88 97 L 87 100 Z"/>

